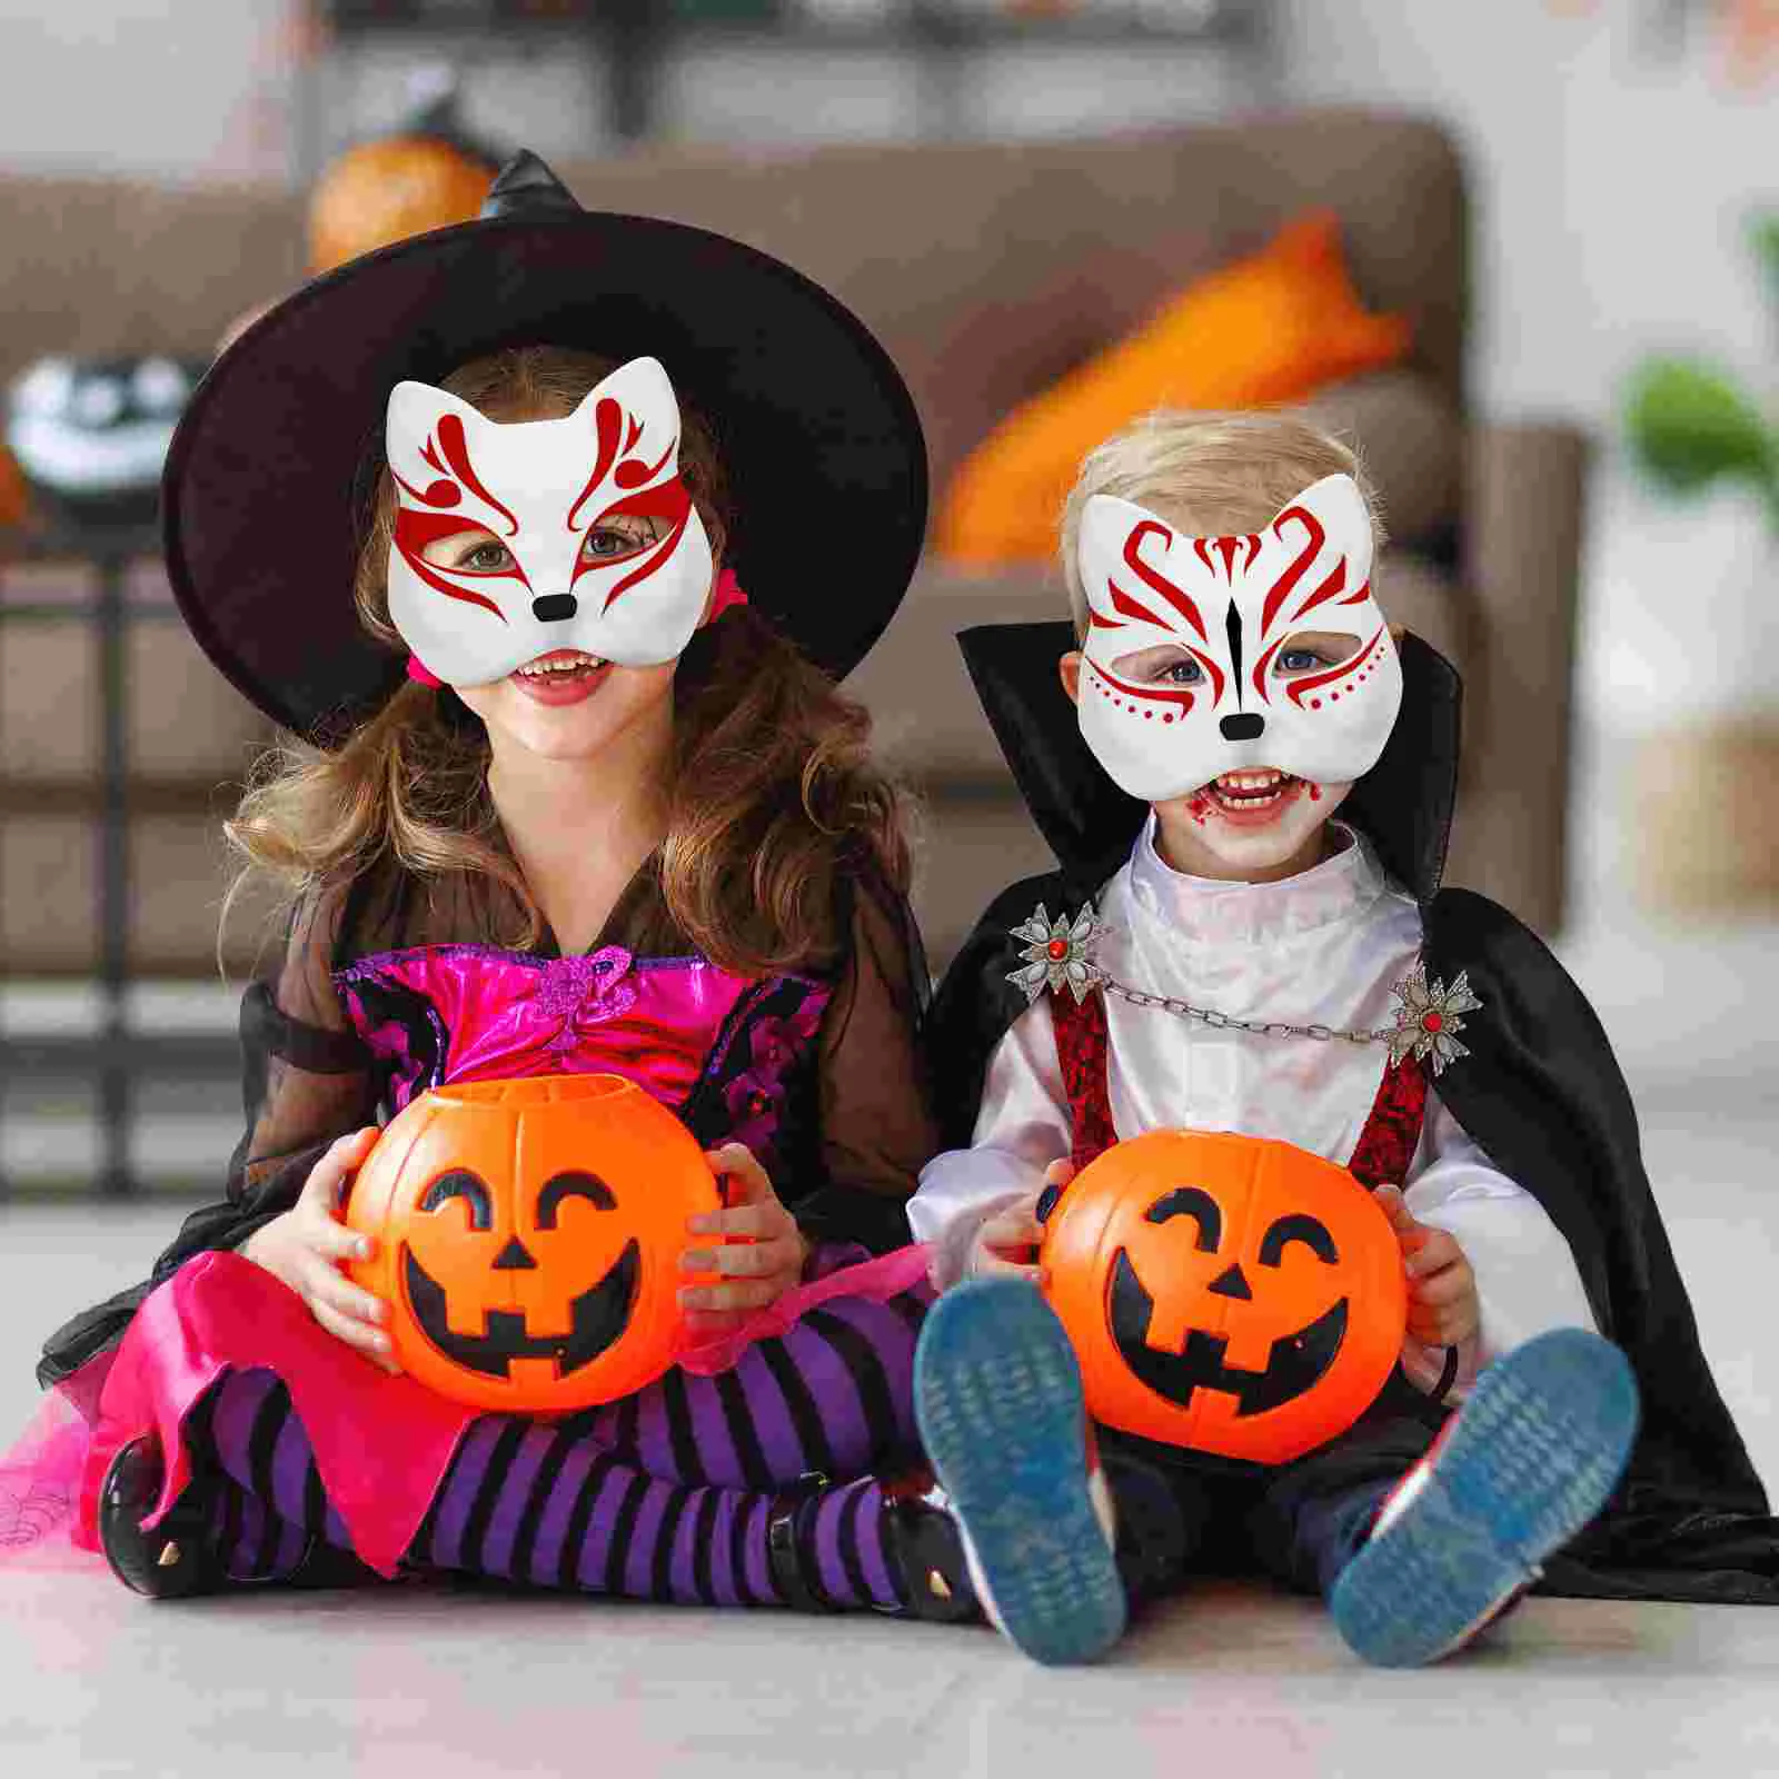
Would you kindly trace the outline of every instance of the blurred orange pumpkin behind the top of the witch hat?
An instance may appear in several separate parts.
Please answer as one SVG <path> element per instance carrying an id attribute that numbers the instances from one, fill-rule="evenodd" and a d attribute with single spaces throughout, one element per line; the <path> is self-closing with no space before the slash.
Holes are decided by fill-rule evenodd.
<path id="1" fill-rule="evenodd" d="M 310 270 L 331 272 L 363 253 L 468 222 L 495 167 L 441 135 L 393 135 L 347 149 L 310 197 Z"/>

